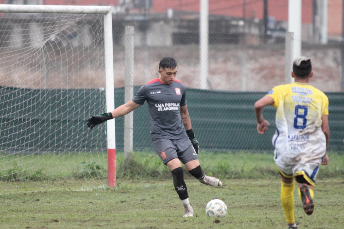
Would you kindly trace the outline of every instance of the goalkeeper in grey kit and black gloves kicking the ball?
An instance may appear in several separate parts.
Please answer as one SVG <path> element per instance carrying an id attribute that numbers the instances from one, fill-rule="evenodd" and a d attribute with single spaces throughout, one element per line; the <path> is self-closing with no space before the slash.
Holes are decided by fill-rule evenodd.
<path id="1" fill-rule="evenodd" d="M 175 79 L 177 71 L 175 59 L 164 57 L 159 64 L 158 78 L 143 85 L 129 102 L 109 113 L 89 118 L 87 126 L 92 129 L 100 123 L 135 110 L 147 101 L 154 149 L 172 173 L 174 188 L 185 209 L 184 217 L 192 217 L 193 209 L 189 203 L 181 163 L 203 184 L 221 187 L 222 183 L 215 177 L 204 175 L 198 161 L 199 144 L 191 128 L 185 86 Z"/>

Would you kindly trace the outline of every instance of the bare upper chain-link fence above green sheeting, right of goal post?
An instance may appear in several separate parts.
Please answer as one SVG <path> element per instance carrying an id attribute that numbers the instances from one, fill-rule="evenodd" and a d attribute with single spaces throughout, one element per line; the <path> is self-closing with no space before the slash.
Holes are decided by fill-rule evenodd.
<path id="1" fill-rule="evenodd" d="M 123 33 L 116 30 L 114 33 Z M 173 56 L 178 61 L 178 79 L 188 88 L 200 88 L 200 48 L 191 42 L 195 33 L 185 33 L 178 40 L 185 44 L 162 45 L 162 40 L 171 39 L 165 34 L 150 36 L 149 46 L 135 46 L 134 85 L 143 85 L 154 77 L 158 77 L 159 61 L 164 56 Z M 123 35 L 123 40 L 124 40 Z M 199 36 L 196 36 L 198 39 Z M 284 41 L 278 44 L 265 44 L 264 39 L 256 37 L 256 45 L 245 45 L 247 36 L 231 36 L 224 38 L 209 37 L 209 72 L 208 89 L 228 91 L 267 91 L 273 86 L 282 84 L 284 78 Z M 252 37 L 251 37 L 252 39 Z M 154 45 L 157 41 L 157 45 Z M 190 41 L 190 42 L 187 42 Z M 125 47 L 114 47 L 115 87 L 124 86 Z M 227 43 L 227 44 L 225 44 Z M 302 55 L 312 59 L 312 85 L 322 91 L 343 91 L 341 45 L 302 44 Z"/>

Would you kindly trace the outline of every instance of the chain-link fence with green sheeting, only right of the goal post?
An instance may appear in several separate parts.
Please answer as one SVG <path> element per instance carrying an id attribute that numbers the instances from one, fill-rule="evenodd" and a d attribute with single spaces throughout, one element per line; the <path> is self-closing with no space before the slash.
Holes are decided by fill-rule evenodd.
<path id="1" fill-rule="evenodd" d="M 123 33 L 123 32 L 122 32 Z M 142 35 L 140 35 L 142 36 Z M 115 86 L 125 86 L 125 39 L 114 48 Z M 135 38 L 134 38 L 135 39 Z M 147 40 L 149 39 L 149 40 Z M 133 82 L 136 92 L 140 85 L 159 76 L 159 61 L 172 56 L 178 62 L 177 78 L 187 87 L 187 101 L 193 130 L 200 141 L 201 149 L 208 151 L 227 150 L 272 150 L 271 137 L 275 131 L 275 109 L 268 107 L 265 117 L 272 124 L 265 135 L 256 131 L 254 102 L 276 85 L 289 83 L 292 59 L 286 69 L 285 40 L 270 43 L 259 36 L 213 34 L 209 36 L 207 89 L 200 89 L 202 64 L 200 63 L 199 36 L 195 32 L 183 35 L 150 34 L 143 40 L 149 45 L 134 48 Z M 164 42 L 165 41 L 165 42 Z M 299 48 L 300 39 L 292 39 Z M 156 45 L 154 45 L 156 43 Z M 166 45 L 163 45 L 163 44 Z M 196 43 L 196 44 L 195 44 Z M 126 47 L 128 48 L 128 47 Z M 326 92 L 330 99 L 330 149 L 343 151 L 343 109 L 341 45 L 315 45 L 302 43 L 302 55 L 312 59 L 314 77 L 310 83 Z M 287 50 L 289 52 L 289 50 Z M 294 53 L 294 55 L 295 55 Z M 290 53 L 289 53 L 290 54 Z M 289 58 L 292 58 L 290 56 Z M 118 90 L 124 93 L 124 90 Z M 135 94 L 135 93 L 134 93 Z M 116 97 L 117 105 L 123 103 L 123 95 Z M 123 118 L 116 119 L 117 148 L 123 149 Z M 134 111 L 133 150 L 152 150 L 150 123 L 147 105 Z M 127 139 L 128 140 L 128 139 Z"/>

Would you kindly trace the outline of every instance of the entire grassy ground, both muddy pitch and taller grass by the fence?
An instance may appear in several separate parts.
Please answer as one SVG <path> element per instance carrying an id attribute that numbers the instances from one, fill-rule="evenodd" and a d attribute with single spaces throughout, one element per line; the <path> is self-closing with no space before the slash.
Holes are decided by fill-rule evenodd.
<path id="1" fill-rule="evenodd" d="M 329 155 L 330 164 L 320 167 L 313 215 L 304 213 L 295 188 L 299 228 L 343 228 L 344 156 Z M 1 155 L 0 228 L 287 228 L 272 154 L 199 156 L 205 172 L 224 185 L 205 186 L 186 173 L 195 214 L 183 218 L 172 176 L 155 154 L 136 153 L 130 163 L 118 154 L 115 188 L 104 179 L 105 154 Z M 11 173 L 15 182 L 7 181 Z M 225 218 L 205 215 L 213 198 L 227 204 Z"/>

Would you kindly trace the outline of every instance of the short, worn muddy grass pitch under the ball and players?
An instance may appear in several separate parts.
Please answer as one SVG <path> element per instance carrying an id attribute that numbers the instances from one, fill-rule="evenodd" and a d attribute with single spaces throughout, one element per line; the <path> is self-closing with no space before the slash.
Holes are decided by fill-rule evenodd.
<path id="1" fill-rule="evenodd" d="M 278 179 L 225 179 L 223 188 L 187 179 L 193 218 L 183 218 L 172 179 L 119 179 L 110 189 L 102 182 L 29 182 L 1 190 L 0 228 L 286 228 Z M 295 198 L 299 228 L 343 228 L 343 179 L 321 179 L 315 211 L 307 216 Z M 2 184 L 3 186 L 3 184 Z M 297 195 L 296 189 L 294 195 Z M 225 218 L 205 215 L 212 198 L 225 201 Z"/>

